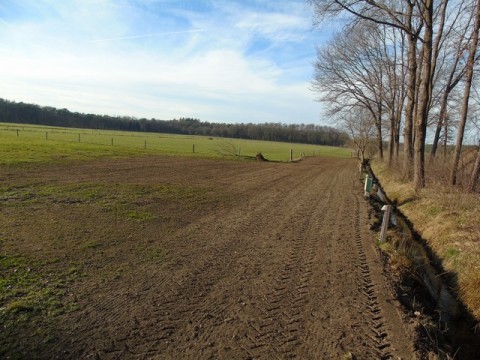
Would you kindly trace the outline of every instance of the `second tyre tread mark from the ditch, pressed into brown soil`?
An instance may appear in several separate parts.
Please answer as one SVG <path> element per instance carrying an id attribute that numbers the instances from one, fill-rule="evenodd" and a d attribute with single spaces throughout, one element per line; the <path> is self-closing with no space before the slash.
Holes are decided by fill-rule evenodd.
<path id="1" fill-rule="evenodd" d="M 330 187 L 329 184 L 328 187 Z M 267 358 L 276 354 L 278 358 L 295 358 L 296 350 L 302 343 L 305 331 L 305 303 L 308 287 L 313 275 L 312 266 L 316 254 L 316 236 L 313 233 L 321 227 L 323 215 L 329 204 L 331 192 L 323 202 L 312 205 L 305 198 L 299 215 L 292 219 L 295 235 L 287 239 L 291 243 L 290 254 L 275 277 L 273 288 L 265 295 L 264 316 L 256 330 L 256 336 L 250 345 L 254 358 L 262 358 L 264 352 L 256 351 L 269 346 Z M 305 195 L 304 195 L 305 196 Z M 310 206 L 310 207 L 309 207 Z M 314 208 L 311 208 L 313 206 Z M 316 220 L 317 223 L 312 224 Z M 297 229 L 298 228 L 298 229 Z M 281 331 L 278 331 L 278 329 Z"/>

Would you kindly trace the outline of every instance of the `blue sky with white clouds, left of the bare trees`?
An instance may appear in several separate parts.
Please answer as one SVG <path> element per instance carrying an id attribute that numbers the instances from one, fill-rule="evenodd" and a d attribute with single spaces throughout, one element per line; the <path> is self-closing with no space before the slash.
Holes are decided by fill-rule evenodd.
<path id="1" fill-rule="evenodd" d="M 72 111 L 323 123 L 304 0 L 1 0 L 0 97 Z"/>

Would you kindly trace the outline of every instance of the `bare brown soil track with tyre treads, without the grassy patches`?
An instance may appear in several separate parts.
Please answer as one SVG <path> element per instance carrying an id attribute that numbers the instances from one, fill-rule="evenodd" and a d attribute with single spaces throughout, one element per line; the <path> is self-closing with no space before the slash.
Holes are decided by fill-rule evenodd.
<path id="1" fill-rule="evenodd" d="M 217 186 L 232 196 L 163 238 L 155 222 L 117 230 L 118 248 L 105 261 L 121 260 L 128 271 L 80 283 L 80 310 L 40 357 L 413 357 L 367 229 L 353 160 L 124 159 L 62 171 L 48 176 Z M 166 260 L 139 262 L 140 239 L 165 248 Z"/>

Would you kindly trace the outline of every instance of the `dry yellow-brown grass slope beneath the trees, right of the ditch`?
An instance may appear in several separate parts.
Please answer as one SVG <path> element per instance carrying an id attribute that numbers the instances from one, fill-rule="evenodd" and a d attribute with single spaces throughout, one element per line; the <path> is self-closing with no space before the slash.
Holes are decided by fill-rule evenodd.
<path id="1" fill-rule="evenodd" d="M 480 320 L 480 194 L 464 190 L 467 165 L 461 167 L 460 185 L 452 188 L 447 185 L 448 163 L 429 164 L 427 188 L 419 193 L 402 181 L 399 167 L 375 162 L 372 168 L 388 197 L 442 260 L 445 270 L 457 275 L 459 298 Z"/>

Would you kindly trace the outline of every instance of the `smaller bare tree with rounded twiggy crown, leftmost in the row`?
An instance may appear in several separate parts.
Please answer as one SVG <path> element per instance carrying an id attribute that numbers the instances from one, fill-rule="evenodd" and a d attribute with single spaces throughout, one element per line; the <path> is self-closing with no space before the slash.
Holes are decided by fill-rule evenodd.
<path id="1" fill-rule="evenodd" d="M 359 29 L 361 27 L 361 29 Z M 317 51 L 313 90 L 318 100 L 328 104 L 330 114 L 363 107 L 375 121 L 378 155 L 383 159 L 384 82 L 387 78 L 382 61 L 385 38 L 372 24 L 355 24 L 336 34 L 329 44 Z"/>

